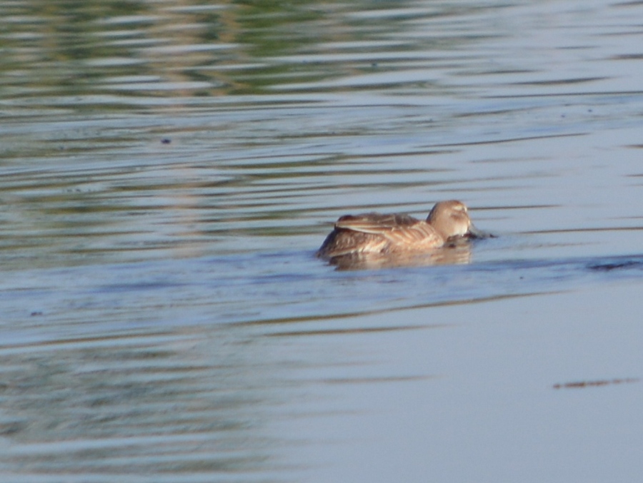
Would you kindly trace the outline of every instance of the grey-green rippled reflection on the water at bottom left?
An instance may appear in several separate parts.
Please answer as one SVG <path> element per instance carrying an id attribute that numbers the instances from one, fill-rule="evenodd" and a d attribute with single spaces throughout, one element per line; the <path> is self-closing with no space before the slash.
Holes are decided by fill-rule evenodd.
<path id="1" fill-rule="evenodd" d="M 289 387 L 249 331 L 156 332 L 5 347 L 7 471 L 251 474 L 276 468 L 266 418 Z M 43 387 L 46 390 L 43 391 Z M 274 414 L 271 415 L 274 417 Z M 267 464 L 266 464 L 267 462 Z"/>

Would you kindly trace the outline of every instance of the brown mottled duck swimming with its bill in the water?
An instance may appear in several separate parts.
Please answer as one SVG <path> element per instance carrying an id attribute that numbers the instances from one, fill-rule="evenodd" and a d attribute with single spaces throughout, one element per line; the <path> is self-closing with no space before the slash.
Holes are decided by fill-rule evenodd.
<path id="1" fill-rule="evenodd" d="M 479 230 L 459 200 L 436 203 L 427 220 L 402 213 L 344 215 L 316 252 L 334 260 L 352 255 L 414 255 L 431 253 L 457 242 L 477 238 Z"/>

